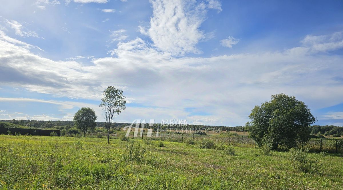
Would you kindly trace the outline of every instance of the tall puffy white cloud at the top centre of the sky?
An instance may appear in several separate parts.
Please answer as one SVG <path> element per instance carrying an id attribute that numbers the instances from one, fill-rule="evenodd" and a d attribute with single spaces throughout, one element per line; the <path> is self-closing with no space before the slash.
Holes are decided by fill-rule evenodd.
<path id="1" fill-rule="evenodd" d="M 197 43 L 205 38 L 199 30 L 205 20 L 207 10 L 214 1 L 197 3 L 182 0 L 151 0 L 153 17 L 150 28 L 140 27 L 140 32 L 148 35 L 159 50 L 174 55 L 201 53 Z M 210 4 L 206 4 L 210 3 Z"/>

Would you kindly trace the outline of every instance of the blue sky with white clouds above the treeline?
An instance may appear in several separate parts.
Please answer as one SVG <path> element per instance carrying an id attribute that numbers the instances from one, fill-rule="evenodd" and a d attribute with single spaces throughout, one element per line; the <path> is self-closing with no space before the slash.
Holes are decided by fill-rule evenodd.
<path id="1" fill-rule="evenodd" d="M 124 91 L 117 122 L 244 125 L 272 94 L 343 126 L 340 1 L 0 1 L 0 119 L 71 120 Z"/>

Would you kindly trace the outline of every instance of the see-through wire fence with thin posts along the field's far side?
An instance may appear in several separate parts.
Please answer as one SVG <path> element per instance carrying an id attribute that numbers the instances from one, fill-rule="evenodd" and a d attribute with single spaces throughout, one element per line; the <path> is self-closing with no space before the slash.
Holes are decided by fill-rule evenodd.
<path id="1" fill-rule="evenodd" d="M 116 131 L 111 134 L 111 138 L 122 138 L 125 136 L 126 131 Z M 232 145 L 235 147 L 257 148 L 255 140 L 247 136 L 229 136 L 225 133 L 220 135 L 200 135 L 200 134 L 180 134 L 180 133 L 163 133 L 159 132 L 156 136 L 156 132 L 152 133 L 151 137 L 147 137 L 147 132 L 138 132 L 137 137 L 134 137 L 134 131 L 130 131 L 130 139 L 151 139 L 151 140 L 163 140 L 172 142 L 184 142 L 187 138 L 193 139 L 195 142 L 201 142 L 203 139 L 210 139 L 215 143 L 223 142 L 225 145 Z M 328 152 L 328 153 L 343 153 L 343 139 L 342 138 L 321 138 L 311 139 L 305 145 L 312 152 Z M 284 147 L 280 147 L 284 149 Z"/>

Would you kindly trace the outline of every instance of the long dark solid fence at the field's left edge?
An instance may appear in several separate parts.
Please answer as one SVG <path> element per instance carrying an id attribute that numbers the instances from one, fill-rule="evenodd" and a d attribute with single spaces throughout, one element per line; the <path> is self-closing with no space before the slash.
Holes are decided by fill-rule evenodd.
<path id="1" fill-rule="evenodd" d="M 7 131 L 11 131 L 12 135 L 40 135 L 40 136 L 50 136 L 51 132 L 56 132 L 57 136 L 61 136 L 61 130 L 42 130 L 42 129 L 22 129 L 22 128 L 5 128 L 0 127 L 0 134 L 9 135 Z"/>

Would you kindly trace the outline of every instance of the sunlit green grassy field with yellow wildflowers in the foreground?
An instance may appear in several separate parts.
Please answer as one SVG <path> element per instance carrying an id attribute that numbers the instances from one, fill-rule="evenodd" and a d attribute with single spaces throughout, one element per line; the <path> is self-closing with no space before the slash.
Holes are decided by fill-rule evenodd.
<path id="1" fill-rule="evenodd" d="M 164 142 L 165 147 L 159 147 L 159 141 L 110 142 L 0 135 L 0 187 L 343 189 L 341 155 L 309 153 L 321 167 L 316 173 L 304 173 L 293 169 L 287 152 L 263 155 L 260 149 L 234 147 L 236 154 L 227 155 L 224 150 L 200 149 L 199 144 Z M 130 149 L 131 143 L 134 149 Z"/>

